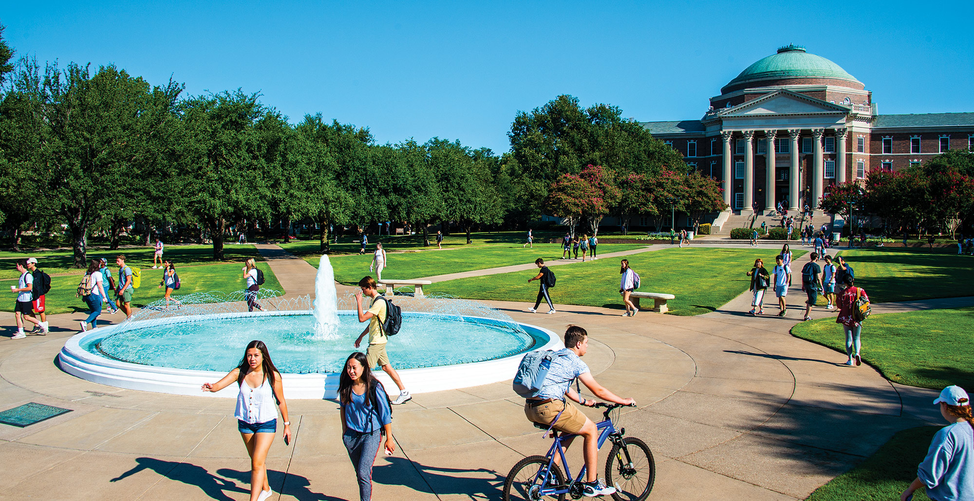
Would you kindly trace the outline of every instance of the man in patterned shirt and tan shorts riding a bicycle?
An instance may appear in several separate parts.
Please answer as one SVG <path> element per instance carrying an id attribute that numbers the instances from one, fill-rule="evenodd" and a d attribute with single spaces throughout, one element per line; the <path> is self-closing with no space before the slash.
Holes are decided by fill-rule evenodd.
<path id="1" fill-rule="evenodd" d="M 569 404 L 565 397 L 585 407 L 592 407 L 597 403 L 594 399 L 581 398 L 581 395 L 572 389 L 572 381 L 578 378 L 586 388 L 602 400 L 622 405 L 633 405 L 636 401 L 616 396 L 592 377 L 588 366 L 580 358 L 588 351 L 588 333 L 584 329 L 576 325 L 568 326 L 568 330 L 565 331 L 565 346 L 567 347 L 556 352 L 559 356 L 551 361 L 538 396 L 527 399 L 524 403 L 524 414 L 529 421 L 549 425 L 565 434 L 581 435 L 584 440 L 586 470 L 586 482 L 582 493 L 589 497 L 612 494 L 616 492 L 616 487 L 606 486 L 602 479 L 596 478 L 599 458 L 598 429 L 591 419 Z M 566 449 L 572 445 L 573 439 L 574 437 L 569 437 L 563 442 Z M 556 458 L 555 462 L 559 460 L 560 458 Z"/>

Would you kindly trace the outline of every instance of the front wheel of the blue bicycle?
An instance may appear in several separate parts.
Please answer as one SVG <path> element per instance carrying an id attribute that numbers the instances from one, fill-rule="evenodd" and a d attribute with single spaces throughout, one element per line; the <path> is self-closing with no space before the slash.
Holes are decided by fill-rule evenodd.
<path id="1" fill-rule="evenodd" d="M 656 461 L 645 442 L 635 437 L 622 439 L 606 458 L 606 485 L 616 487 L 616 501 L 643 501 L 656 482 Z"/>

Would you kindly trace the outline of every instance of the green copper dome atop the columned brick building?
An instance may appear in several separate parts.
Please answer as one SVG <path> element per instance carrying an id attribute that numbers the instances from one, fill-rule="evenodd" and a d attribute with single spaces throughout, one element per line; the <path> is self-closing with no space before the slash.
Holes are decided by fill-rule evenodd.
<path id="1" fill-rule="evenodd" d="M 855 83 L 856 85 L 850 86 L 855 89 L 864 88 L 861 82 L 838 64 L 820 55 L 808 54 L 804 47 L 789 45 L 778 49 L 777 54 L 768 55 L 748 66 L 722 90 L 731 91 L 749 87 L 745 84 L 800 78 L 843 80 Z"/>

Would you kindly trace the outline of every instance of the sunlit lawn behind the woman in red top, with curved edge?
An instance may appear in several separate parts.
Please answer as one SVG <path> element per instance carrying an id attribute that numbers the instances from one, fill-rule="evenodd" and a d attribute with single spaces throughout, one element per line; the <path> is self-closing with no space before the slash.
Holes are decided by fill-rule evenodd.
<path id="1" fill-rule="evenodd" d="M 974 307 L 870 315 L 862 324 L 862 359 L 887 379 L 911 386 L 974 388 Z M 835 318 L 803 322 L 792 335 L 845 356 L 845 337 Z"/>

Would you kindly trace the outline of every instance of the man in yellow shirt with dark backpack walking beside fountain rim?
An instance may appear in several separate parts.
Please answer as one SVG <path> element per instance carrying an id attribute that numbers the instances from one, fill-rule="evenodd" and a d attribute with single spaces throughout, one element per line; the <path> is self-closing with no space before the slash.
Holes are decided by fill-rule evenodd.
<path id="1" fill-rule="evenodd" d="M 399 387 L 399 396 L 393 400 L 393 405 L 405 404 L 412 400 L 413 396 L 409 394 L 409 390 L 402 384 L 402 379 L 399 379 L 399 373 L 395 372 L 392 363 L 389 361 L 389 355 L 386 353 L 386 343 L 389 342 L 389 336 L 395 334 L 395 332 L 390 332 L 387 335 L 386 332 L 386 320 L 389 318 L 389 300 L 379 296 L 379 290 L 376 287 L 375 279 L 371 276 L 365 276 L 361 280 L 358 280 L 358 287 L 361 291 L 356 292 L 356 304 L 358 305 L 358 321 L 368 322 L 368 327 L 356 340 L 356 348 L 362 342 L 362 338 L 368 335 L 368 347 L 365 349 L 365 359 L 368 362 L 369 369 L 375 368 L 376 366 L 382 367 L 382 370 L 386 372 L 390 377 L 393 378 L 393 382 Z M 362 296 L 368 296 L 371 300 L 368 309 L 362 309 Z"/>

